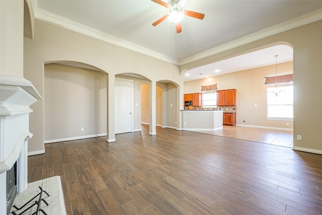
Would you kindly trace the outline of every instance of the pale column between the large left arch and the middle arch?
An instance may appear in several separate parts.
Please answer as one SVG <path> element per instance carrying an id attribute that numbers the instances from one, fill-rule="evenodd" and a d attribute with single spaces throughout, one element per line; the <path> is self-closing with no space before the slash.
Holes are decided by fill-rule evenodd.
<path id="1" fill-rule="evenodd" d="M 115 76 L 107 76 L 107 142 L 115 142 Z"/>

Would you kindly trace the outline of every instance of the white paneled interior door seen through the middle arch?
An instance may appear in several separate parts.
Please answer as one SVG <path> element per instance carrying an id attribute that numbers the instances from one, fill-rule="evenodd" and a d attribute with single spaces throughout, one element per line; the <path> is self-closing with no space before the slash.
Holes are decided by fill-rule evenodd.
<path id="1" fill-rule="evenodd" d="M 133 82 L 115 79 L 115 133 L 132 132 Z"/>

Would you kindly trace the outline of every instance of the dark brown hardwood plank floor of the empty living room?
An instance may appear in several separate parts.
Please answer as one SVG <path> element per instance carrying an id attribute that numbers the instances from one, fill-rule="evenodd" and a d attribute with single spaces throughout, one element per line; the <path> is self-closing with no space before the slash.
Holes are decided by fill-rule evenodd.
<path id="1" fill-rule="evenodd" d="M 46 144 L 29 182 L 61 176 L 67 214 L 321 214 L 322 155 L 156 129 Z"/>

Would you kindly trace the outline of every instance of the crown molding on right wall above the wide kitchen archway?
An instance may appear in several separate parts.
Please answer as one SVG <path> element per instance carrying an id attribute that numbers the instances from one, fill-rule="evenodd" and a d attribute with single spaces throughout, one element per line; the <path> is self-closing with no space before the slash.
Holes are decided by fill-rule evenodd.
<path id="1" fill-rule="evenodd" d="M 259 39 L 263 39 L 268 36 L 272 36 L 274 34 L 278 34 L 293 28 L 300 27 L 302 25 L 306 25 L 318 20 L 322 19 L 322 9 L 313 11 L 308 14 L 304 14 L 302 16 L 296 17 L 294 19 L 291 19 L 289 21 L 280 23 L 278 25 L 263 29 L 261 31 L 255 32 L 253 34 L 247 35 L 245 37 L 240 37 L 236 40 L 224 43 L 222 45 L 216 46 L 214 48 L 208 49 L 206 51 L 200 52 L 198 54 L 192 55 L 190 57 L 184 58 L 179 61 L 179 65 L 183 65 L 186 63 L 193 62 L 195 60 L 202 59 L 204 57 L 208 57 L 214 54 L 217 54 L 222 51 L 226 51 L 241 45 L 245 45 L 247 43 L 254 42 Z"/>

